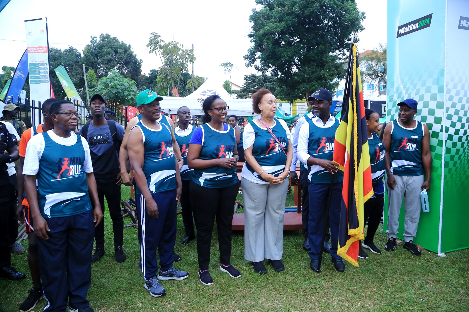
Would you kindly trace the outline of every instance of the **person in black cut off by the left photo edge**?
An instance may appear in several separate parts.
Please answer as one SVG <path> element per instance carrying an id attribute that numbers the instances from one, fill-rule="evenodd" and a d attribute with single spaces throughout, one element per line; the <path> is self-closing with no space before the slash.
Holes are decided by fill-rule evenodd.
<path id="1" fill-rule="evenodd" d="M 5 124 L 0 123 L 0 276 L 10 280 L 22 280 L 26 275 L 11 266 L 10 254 L 9 220 L 15 218 L 16 193 L 15 186 L 8 178 L 7 164 L 20 158 L 16 140 L 12 137 Z M 8 154 L 5 154 L 5 151 Z"/>

